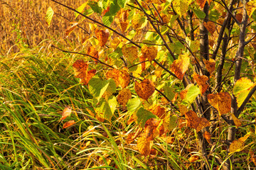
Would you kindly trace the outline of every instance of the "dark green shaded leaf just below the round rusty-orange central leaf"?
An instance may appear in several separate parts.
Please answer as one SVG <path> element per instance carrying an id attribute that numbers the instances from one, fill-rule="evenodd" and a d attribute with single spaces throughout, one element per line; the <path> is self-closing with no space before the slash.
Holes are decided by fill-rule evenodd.
<path id="1" fill-rule="evenodd" d="M 151 113 L 150 111 L 147 111 L 144 108 L 139 108 L 137 111 L 137 123 L 140 127 L 144 127 L 146 120 L 149 120 L 150 118 L 156 118 L 156 115 Z"/>

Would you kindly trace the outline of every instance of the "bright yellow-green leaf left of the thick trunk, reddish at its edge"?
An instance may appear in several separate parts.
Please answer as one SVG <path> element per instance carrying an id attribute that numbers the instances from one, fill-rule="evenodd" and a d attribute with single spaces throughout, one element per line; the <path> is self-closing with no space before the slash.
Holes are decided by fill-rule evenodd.
<path id="1" fill-rule="evenodd" d="M 198 96 L 198 94 L 201 94 L 199 87 L 195 86 L 195 85 L 191 85 L 188 88 L 188 91 L 186 93 L 186 97 L 183 98 L 181 104 L 191 105 L 191 103 L 193 103 L 193 101 L 195 101 L 196 96 Z"/>

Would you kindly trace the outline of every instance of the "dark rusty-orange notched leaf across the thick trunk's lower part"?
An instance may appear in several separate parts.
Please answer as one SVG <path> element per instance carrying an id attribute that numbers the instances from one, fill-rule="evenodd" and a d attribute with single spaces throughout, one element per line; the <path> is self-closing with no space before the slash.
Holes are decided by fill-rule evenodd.
<path id="1" fill-rule="evenodd" d="M 186 123 L 189 128 L 196 129 L 199 132 L 203 128 L 210 126 L 209 121 L 206 118 L 198 118 L 198 115 L 193 111 L 185 113 Z"/>

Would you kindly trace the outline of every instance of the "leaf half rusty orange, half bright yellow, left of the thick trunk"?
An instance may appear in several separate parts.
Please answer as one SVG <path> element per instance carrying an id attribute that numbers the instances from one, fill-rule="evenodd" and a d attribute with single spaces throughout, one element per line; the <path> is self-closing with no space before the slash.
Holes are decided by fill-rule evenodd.
<path id="1" fill-rule="evenodd" d="M 174 60 L 171 64 L 171 72 L 174 72 L 178 79 L 183 79 L 185 72 L 188 70 L 190 58 L 188 55 L 182 55 L 178 57 L 178 60 Z"/>

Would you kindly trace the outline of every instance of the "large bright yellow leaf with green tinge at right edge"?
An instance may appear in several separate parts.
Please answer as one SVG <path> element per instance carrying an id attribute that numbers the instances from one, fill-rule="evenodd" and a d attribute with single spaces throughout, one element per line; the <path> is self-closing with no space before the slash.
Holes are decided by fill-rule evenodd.
<path id="1" fill-rule="evenodd" d="M 242 77 L 235 82 L 233 89 L 233 94 L 237 98 L 238 107 L 242 105 L 242 102 L 245 101 L 245 98 L 250 93 L 250 90 L 255 86 L 250 79 L 247 77 Z"/>

